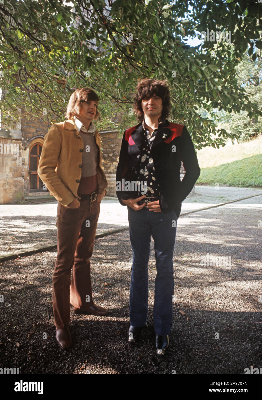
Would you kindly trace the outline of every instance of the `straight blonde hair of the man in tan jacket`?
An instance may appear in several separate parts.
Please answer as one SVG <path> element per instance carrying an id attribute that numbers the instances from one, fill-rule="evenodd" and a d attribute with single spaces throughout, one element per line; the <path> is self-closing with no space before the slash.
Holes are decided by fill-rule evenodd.
<path id="1" fill-rule="evenodd" d="M 79 114 L 80 108 L 81 108 L 81 103 L 85 101 L 99 101 L 99 97 L 97 94 L 92 90 L 91 88 L 81 88 L 81 89 L 76 89 L 75 92 L 73 92 L 70 96 L 68 105 L 67 105 L 67 112 L 65 115 L 65 118 L 70 120 L 74 115 Z M 97 120 L 98 117 L 100 116 L 100 112 L 98 111 L 97 107 L 97 112 L 95 115 L 94 120 Z"/>

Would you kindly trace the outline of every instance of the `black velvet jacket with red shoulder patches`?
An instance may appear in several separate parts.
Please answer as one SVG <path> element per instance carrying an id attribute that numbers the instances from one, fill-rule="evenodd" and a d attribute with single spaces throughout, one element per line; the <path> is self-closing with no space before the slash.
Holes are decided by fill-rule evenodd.
<path id="1" fill-rule="evenodd" d="M 136 181 L 135 166 L 141 157 L 143 126 L 140 124 L 124 132 L 116 169 L 116 182 Z M 175 210 L 177 218 L 181 212 L 181 203 L 193 189 L 200 175 L 194 145 L 191 136 L 184 125 L 174 124 L 165 120 L 158 127 L 156 137 L 151 147 L 156 178 L 160 185 L 160 208 L 164 214 Z M 180 180 L 181 161 L 185 168 L 185 176 Z M 119 185 L 116 186 L 119 188 Z M 123 189 L 122 186 L 121 189 Z M 137 191 L 126 192 L 116 190 L 120 204 L 122 199 L 137 198 Z"/>

